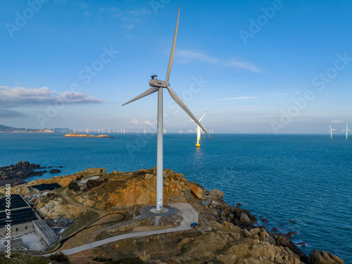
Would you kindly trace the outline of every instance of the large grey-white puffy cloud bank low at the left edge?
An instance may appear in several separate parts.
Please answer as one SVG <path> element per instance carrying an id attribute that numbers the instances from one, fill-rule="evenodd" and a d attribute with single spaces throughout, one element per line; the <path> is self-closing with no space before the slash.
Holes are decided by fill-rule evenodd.
<path id="1" fill-rule="evenodd" d="M 0 103 L 3 107 L 42 105 L 55 103 L 58 100 L 64 100 L 65 103 L 101 103 L 100 99 L 82 93 L 64 91 L 57 94 L 49 87 L 2 87 L 0 89 Z"/>

